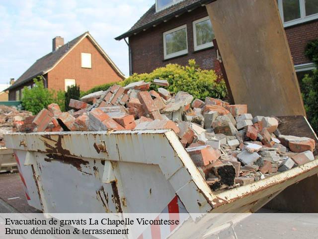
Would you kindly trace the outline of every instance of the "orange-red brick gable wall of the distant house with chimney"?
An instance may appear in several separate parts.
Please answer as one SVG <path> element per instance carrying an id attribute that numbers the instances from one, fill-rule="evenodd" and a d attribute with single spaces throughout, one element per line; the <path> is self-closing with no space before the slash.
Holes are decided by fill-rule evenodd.
<path id="1" fill-rule="evenodd" d="M 81 68 L 82 52 L 91 53 L 91 68 Z M 87 37 L 48 73 L 48 88 L 65 90 L 65 79 L 75 79 L 81 91 L 122 80 Z"/>

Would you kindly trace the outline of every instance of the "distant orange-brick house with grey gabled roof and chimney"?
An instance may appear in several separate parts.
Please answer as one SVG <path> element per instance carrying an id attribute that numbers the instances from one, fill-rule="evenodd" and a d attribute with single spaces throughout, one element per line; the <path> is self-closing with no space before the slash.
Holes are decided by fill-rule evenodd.
<path id="1" fill-rule="evenodd" d="M 9 100 L 20 100 L 23 88 L 32 88 L 37 76 L 43 76 L 44 86 L 49 89 L 66 90 L 77 84 L 81 91 L 125 78 L 89 32 L 66 44 L 62 37 L 55 37 L 52 52 L 38 59 L 7 89 Z"/>

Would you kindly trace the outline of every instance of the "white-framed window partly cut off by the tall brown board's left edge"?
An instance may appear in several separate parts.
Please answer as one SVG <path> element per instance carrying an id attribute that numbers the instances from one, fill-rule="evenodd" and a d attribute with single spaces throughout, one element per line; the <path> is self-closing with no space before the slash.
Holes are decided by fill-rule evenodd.
<path id="1" fill-rule="evenodd" d="M 214 32 L 210 18 L 204 17 L 193 22 L 194 50 L 213 46 Z"/>

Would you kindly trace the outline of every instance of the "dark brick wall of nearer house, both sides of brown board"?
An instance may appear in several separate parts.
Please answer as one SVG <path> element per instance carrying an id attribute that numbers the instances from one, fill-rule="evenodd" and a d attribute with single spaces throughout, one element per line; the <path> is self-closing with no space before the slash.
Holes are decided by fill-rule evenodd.
<path id="1" fill-rule="evenodd" d="M 193 45 L 192 22 L 207 15 L 206 7 L 199 7 L 166 23 L 161 23 L 156 27 L 129 37 L 133 73 L 151 72 L 168 63 L 185 65 L 189 59 L 195 59 L 203 69 L 214 69 L 216 62 L 215 49 L 209 48 L 195 52 Z M 163 32 L 184 24 L 187 25 L 188 54 L 163 60 Z M 286 28 L 286 35 L 294 64 L 309 63 L 310 61 L 306 58 L 304 50 L 308 41 L 318 38 L 318 20 L 288 27 Z"/>

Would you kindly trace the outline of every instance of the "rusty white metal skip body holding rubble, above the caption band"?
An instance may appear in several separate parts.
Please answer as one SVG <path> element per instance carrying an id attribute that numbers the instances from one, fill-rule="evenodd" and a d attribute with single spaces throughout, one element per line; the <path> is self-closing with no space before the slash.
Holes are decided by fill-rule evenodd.
<path id="1" fill-rule="evenodd" d="M 191 213 L 253 212 L 318 173 L 314 160 L 215 194 L 172 130 L 12 133 L 4 139 L 22 162 L 29 204 L 50 213 L 160 213 L 175 195 Z M 100 144 L 106 149 L 96 150 Z"/>

